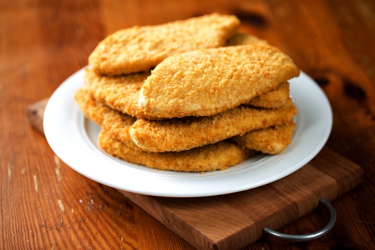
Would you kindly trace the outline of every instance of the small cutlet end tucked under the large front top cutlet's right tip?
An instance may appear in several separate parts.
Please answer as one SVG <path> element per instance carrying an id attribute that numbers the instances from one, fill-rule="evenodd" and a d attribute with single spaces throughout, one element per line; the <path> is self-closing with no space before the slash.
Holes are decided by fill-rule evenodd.
<path id="1" fill-rule="evenodd" d="M 271 90 L 251 99 L 246 105 L 262 108 L 279 108 L 289 98 L 289 82 L 283 82 L 275 90 Z"/>

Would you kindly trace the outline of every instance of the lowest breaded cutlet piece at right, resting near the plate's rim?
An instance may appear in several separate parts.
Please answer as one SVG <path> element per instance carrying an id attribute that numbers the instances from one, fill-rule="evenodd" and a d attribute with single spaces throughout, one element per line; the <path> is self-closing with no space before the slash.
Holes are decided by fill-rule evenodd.
<path id="1" fill-rule="evenodd" d="M 266 129 L 253 130 L 245 135 L 232 138 L 242 147 L 251 148 L 267 154 L 280 154 L 292 143 L 296 124 L 293 121 Z"/>

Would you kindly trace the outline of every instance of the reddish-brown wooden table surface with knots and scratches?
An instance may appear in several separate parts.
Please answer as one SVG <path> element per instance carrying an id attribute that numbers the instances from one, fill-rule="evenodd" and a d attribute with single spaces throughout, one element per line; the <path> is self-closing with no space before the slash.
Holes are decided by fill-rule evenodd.
<path id="1" fill-rule="evenodd" d="M 193 249 L 117 190 L 65 165 L 30 126 L 49 97 L 120 28 L 206 13 L 237 15 L 240 30 L 290 55 L 329 98 L 327 146 L 365 171 L 333 201 L 335 227 L 307 243 L 263 237 L 245 249 L 375 249 L 374 1 L 0 1 L 0 249 Z M 319 211 L 280 229 L 322 228 Z"/>

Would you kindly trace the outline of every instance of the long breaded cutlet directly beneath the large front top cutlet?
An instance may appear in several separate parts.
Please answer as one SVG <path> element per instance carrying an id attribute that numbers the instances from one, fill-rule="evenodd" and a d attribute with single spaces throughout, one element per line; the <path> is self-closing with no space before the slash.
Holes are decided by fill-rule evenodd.
<path id="1" fill-rule="evenodd" d="M 251 130 L 291 121 L 297 109 L 291 99 L 277 109 L 241 105 L 217 115 L 150 121 L 137 119 L 130 136 L 152 152 L 181 151 L 215 143 Z"/>

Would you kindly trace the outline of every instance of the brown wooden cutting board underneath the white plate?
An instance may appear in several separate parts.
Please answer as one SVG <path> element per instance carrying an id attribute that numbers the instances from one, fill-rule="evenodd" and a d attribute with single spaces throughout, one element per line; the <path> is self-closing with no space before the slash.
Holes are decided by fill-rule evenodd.
<path id="1" fill-rule="evenodd" d="M 46 99 L 28 108 L 30 123 L 41 133 Z M 118 190 L 197 249 L 241 249 L 361 182 L 363 169 L 325 147 L 308 164 L 273 183 L 238 193 L 167 198 Z M 171 187 L 173 188 L 173 187 Z"/>

